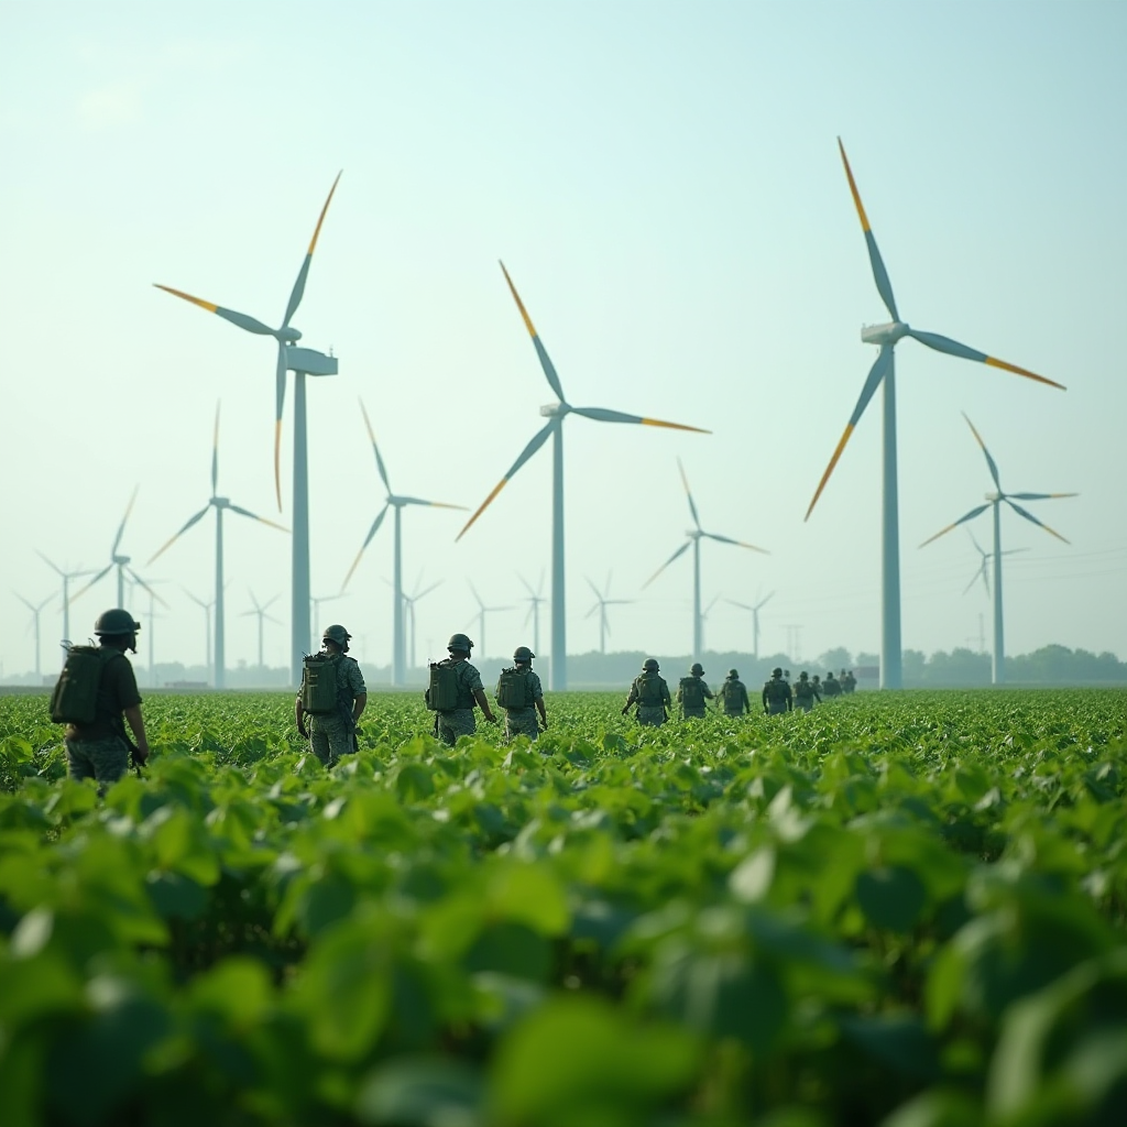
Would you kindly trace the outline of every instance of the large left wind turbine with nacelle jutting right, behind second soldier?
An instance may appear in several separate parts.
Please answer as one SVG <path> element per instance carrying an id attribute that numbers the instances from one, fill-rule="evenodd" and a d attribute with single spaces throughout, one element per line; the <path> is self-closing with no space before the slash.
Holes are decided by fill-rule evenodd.
<path id="1" fill-rule="evenodd" d="M 302 658 L 309 653 L 309 446 L 305 433 L 305 376 L 307 375 L 336 375 L 337 358 L 326 356 L 313 348 L 298 347 L 301 332 L 291 326 L 290 320 L 298 311 L 301 299 L 305 293 L 305 278 L 309 276 L 309 265 L 317 249 L 317 239 L 321 233 L 321 224 L 325 222 L 325 213 L 332 202 L 332 194 L 337 190 L 340 174 L 332 181 L 328 198 L 321 208 L 317 227 L 313 229 L 313 238 L 310 239 L 309 250 L 305 251 L 305 259 L 298 272 L 298 281 L 293 284 L 290 293 L 290 301 L 285 308 L 285 317 L 276 329 L 264 325 L 254 317 L 246 313 L 237 313 L 234 310 L 224 309 L 222 305 L 213 304 L 210 301 L 202 301 L 193 298 L 189 293 L 174 290 L 171 286 L 154 283 L 158 290 L 190 301 L 201 309 L 206 309 L 211 313 L 216 313 L 223 320 L 237 325 L 240 329 L 255 332 L 259 336 L 274 337 L 277 340 L 277 365 L 274 378 L 274 489 L 277 494 L 278 511 L 282 509 L 282 477 L 281 477 L 281 450 L 282 450 L 282 408 L 285 405 L 285 374 L 293 372 L 293 543 L 292 543 L 292 592 L 291 592 L 291 623 L 290 623 L 290 672 L 294 683 L 301 680 Z"/>

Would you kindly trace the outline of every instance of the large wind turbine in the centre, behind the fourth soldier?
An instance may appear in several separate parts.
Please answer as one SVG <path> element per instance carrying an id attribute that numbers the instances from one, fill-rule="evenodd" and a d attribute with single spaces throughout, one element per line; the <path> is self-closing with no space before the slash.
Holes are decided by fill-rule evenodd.
<path id="1" fill-rule="evenodd" d="M 582 415 L 584 418 L 594 419 L 596 423 L 633 423 L 641 426 L 671 427 L 674 431 L 693 431 L 698 434 L 708 434 L 700 427 L 683 426 L 681 423 L 663 423 L 660 419 L 644 418 L 641 415 L 625 415 L 622 411 L 607 410 L 604 407 L 573 407 L 564 398 L 564 387 L 556 367 L 548 356 L 540 336 L 533 328 L 532 319 L 529 317 L 521 301 L 513 279 L 505 269 L 505 264 L 500 264 L 502 273 L 508 283 L 508 289 L 516 302 L 516 308 L 521 311 L 524 326 L 532 337 L 533 347 L 540 357 L 540 366 L 544 371 L 548 385 L 556 396 L 556 402 L 548 403 L 540 408 L 542 417 L 548 421 L 533 435 L 532 441 L 521 451 L 521 455 L 509 467 L 508 472 L 494 487 L 492 492 L 481 503 L 480 508 L 467 521 L 465 526 L 458 534 L 458 539 L 469 531 L 470 525 L 486 511 L 490 502 L 500 492 L 502 488 L 521 469 L 540 447 L 552 437 L 552 651 L 551 667 L 548 671 L 549 685 L 554 690 L 567 689 L 567 614 L 565 607 L 565 576 L 564 576 L 564 419 L 568 415 Z"/>

